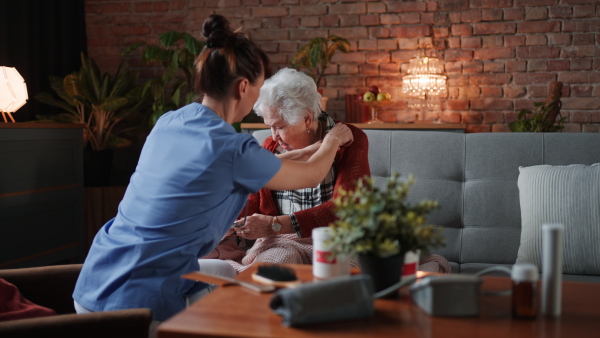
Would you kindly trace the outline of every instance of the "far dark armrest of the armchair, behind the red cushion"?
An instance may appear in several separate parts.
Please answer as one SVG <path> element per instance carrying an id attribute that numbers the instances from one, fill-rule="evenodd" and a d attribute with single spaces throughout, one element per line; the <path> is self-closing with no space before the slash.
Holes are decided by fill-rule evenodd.
<path id="1" fill-rule="evenodd" d="M 75 313 L 73 290 L 82 264 L 0 270 L 0 278 L 14 284 L 23 297 L 58 314 Z"/>

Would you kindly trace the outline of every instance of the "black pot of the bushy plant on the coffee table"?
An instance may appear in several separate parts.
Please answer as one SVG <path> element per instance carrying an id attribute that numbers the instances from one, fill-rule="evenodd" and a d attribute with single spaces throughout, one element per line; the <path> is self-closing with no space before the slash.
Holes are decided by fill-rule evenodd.
<path id="1" fill-rule="evenodd" d="M 379 292 L 400 281 L 402 266 L 404 265 L 404 253 L 386 258 L 370 254 L 359 254 L 358 262 L 361 273 L 371 276 L 375 285 L 375 292 Z M 397 295 L 398 293 L 394 292 L 386 298 L 393 298 Z"/>

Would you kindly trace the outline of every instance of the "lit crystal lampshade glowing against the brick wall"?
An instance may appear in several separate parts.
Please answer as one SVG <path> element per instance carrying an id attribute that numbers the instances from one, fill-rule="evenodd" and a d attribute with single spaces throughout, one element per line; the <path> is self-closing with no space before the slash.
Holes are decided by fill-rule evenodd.
<path id="1" fill-rule="evenodd" d="M 416 56 L 410 59 L 407 73 L 402 78 L 402 92 L 410 97 L 408 107 L 421 111 L 440 109 L 439 98 L 447 92 L 447 76 L 440 59 Z"/>

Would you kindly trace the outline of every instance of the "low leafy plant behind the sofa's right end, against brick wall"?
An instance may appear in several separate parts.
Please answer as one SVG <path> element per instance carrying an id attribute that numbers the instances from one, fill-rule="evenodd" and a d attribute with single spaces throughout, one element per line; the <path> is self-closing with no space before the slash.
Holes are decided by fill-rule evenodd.
<path id="1" fill-rule="evenodd" d="M 565 117 L 560 114 L 560 97 L 550 103 L 534 102 L 533 111 L 522 109 L 518 119 L 508 127 L 513 132 L 556 132 L 564 128 Z"/>

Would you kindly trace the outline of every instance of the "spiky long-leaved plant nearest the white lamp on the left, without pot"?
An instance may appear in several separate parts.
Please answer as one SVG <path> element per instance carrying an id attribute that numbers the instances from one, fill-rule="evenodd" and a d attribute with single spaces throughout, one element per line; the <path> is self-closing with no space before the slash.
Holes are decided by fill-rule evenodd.
<path id="1" fill-rule="evenodd" d="M 131 144 L 126 136 L 134 127 L 124 120 L 138 111 L 141 88 L 136 85 L 137 72 L 119 66 L 114 76 L 101 74 L 93 59 L 81 53 L 81 69 L 63 79 L 51 76 L 50 87 L 56 95 L 39 93 L 35 98 L 58 107 L 63 112 L 38 115 L 39 122 L 81 123 L 84 147 L 104 150 Z"/>

